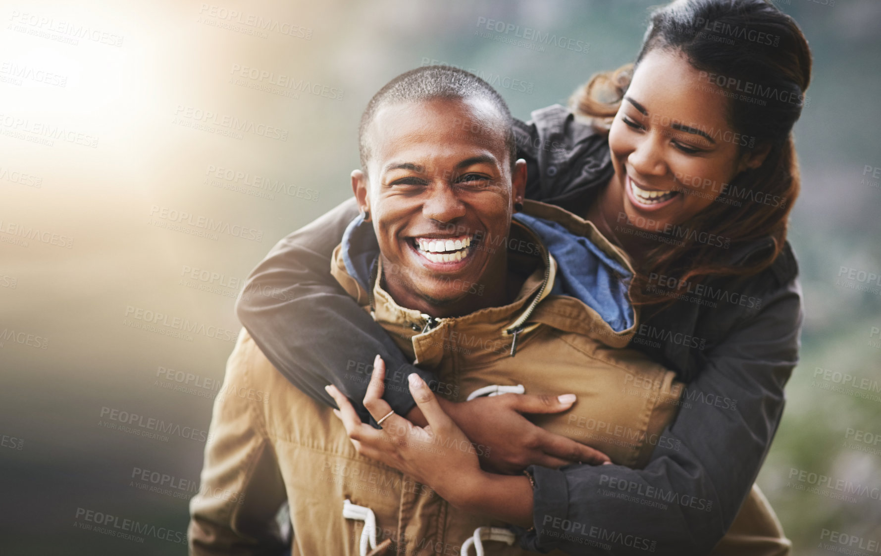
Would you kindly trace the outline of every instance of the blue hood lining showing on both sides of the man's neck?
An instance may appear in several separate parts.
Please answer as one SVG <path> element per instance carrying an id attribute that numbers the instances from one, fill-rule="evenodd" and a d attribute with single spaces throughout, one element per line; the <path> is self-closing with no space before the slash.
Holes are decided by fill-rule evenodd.
<path id="1" fill-rule="evenodd" d="M 515 214 L 514 219 L 535 232 L 557 260 L 553 295 L 568 295 L 581 300 L 616 332 L 633 326 L 633 306 L 627 295 L 632 274 L 623 264 L 605 254 L 588 238 L 572 234 L 557 222 L 522 212 Z M 364 221 L 364 214 L 359 214 L 346 226 L 342 250 L 345 270 L 369 292 L 371 270 L 380 247 L 374 226 Z"/>

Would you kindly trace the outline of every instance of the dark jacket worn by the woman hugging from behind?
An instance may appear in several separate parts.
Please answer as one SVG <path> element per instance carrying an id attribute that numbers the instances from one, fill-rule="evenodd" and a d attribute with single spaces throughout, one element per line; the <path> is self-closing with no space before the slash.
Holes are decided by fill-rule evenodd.
<path id="1" fill-rule="evenodd" d="M 606 136 L 559 106 L 516 122 L 515 133 L 529 167 L 527 196 L 584 214 L 613 173 Z M 237 312 L 294 385 L 332 405 L 323 389 L 332 382 L 369 420 L 360 404 L 366 382 L 359 379 L 377 353 L 389 380 L 416 372 L 431 383 L 433 376 L 411 366 L 330 275 L 331 253 L 356 214 L 347 201 L 279 241 L 248 278 Z M 770 247 L 770 241 L 732 247 L 730 261 L 743 263 Z M 641 470 L 530 467 L 536 529 L 521 531 L 524 548 L 642 554 L 645 539 L 655 554 L 713 548 L 750 493 L 780 423 L 803 319 L 797 273 L 787 244 L 766 271 L 674 288 L 673 304 L 643 318 L 631 346 L 687 382 L 678 417 L 664 434 L 673 441 L 657 446 Z M 399 414 L 414 405 L 406 388 L 387 389 L 386 399 Z M 626 540 L 634 538 L 640 543 Z"/>

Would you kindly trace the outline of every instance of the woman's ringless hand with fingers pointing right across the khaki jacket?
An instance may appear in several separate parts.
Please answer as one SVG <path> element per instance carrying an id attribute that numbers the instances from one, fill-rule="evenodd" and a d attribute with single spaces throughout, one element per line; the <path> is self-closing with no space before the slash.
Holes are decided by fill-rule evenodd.
<path id="1" fill-rule="evenodd" d="M 438 401 L 474 443 L 486 471 L 516 475 L 529 465 L 557 469 L 569 463 L 611 463 L 603 452 L 566 436 L 549 433 L 523 417 L 528 413 L 566 411 L 575 402 L 573 394 L 559 397 L 501 394 L 458 404 L 443 398 Z M 407 418 L 416 423 L 425 422 L 418 405 Z"/>

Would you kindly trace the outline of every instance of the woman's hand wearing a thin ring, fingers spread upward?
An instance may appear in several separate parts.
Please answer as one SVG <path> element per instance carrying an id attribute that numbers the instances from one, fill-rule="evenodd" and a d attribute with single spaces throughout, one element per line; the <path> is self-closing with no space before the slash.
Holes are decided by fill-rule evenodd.
<path id="1" fill-rule="evenodd" d="M 382 399 L 385 390 L 385 363 L 379 355 L 364 396 L 364 407 L 377 421 L 391 407 Z M 442 498 L 454 505 L 468 491 L 468 485 L 479 481 L 477 450 L 462 429 L 441 409 L 438 398 L 418 376 L 409 377 L 410 391 L 428 422 L 415 426 L 400 415 L 393 414 L 382 422 L 381 429 L 362 423 L 349 400 L 334 386 L 327 392 L 339 406 L 334 413 L 343 421 L 346 433 L 358 453 L 385 463 L 418 482 L 431 486 Z"/>

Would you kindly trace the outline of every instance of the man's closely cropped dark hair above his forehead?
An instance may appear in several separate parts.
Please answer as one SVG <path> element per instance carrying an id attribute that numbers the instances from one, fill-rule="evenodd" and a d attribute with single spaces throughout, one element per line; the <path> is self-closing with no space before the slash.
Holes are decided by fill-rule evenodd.
<path id="1" fill-rule="evenodd" d="M 489 131 L 502 132 L 510 164 L 514 167 L 517 158 L 517 145 L 514 131 L 511 130 L 513 121 L 511 111 L 505 100 L 492 88 L 492 85 L 473 73 L 449 66 L 433 65 L 402 73 L 383 86 L 379 93 L 374 94 L 374 98 L 367 103 L 364 114 L 361 115 L 358 130 L 361 167 L 365 172 L 367 160 L 371 155 L 367 132 L 380 108 L 390 104 L 427 100 L 485 100 L 498 111 L 498 125 L 500 126 L 496 130 L 486 130 L 486 135 L 487 137 L 495 136 L 495 133 L 489 133 Z M 467 130 L 464 128 L 468 126 L 470 126 L 470 122 L 463 122 L 463 130 Z"/>

